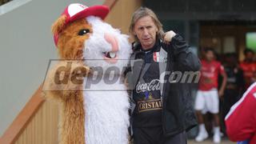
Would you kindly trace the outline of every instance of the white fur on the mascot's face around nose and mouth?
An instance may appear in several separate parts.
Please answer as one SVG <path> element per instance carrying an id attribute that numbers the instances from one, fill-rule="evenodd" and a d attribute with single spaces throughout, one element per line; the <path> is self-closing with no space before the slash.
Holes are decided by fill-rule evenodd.
<path id="1" fill-rule="evenodd" d="M 122 68 L 122 66 L 126 66 L 127 60 L 130 58 L 131 54 L 131 46 L 128 42 L 128 35 L 121 34 L 120 30 L 114 29 L 112 26 L 107 24 L 106 22 L 102 22 L 102 20 L 98 17 L 90 16 L 86 18 L 87 22 L 93 28 L 93 34 L 90 35 L 90 38 L 85 42 L 85 50 L 84 57 L 86 59 L 87 66 L 102 66 L 103 68 L 107 68 L 109 66 L 118 66 Z M 104 34 L 109 33 L 118 38 L 118 59 L 122 59 L 118 61 L 116 64 L 110 64 L 105 62 L 102 57 L 102 52 L 110 51 L 111 45 L 109 42 L 106 42 L 104 38 Z M 90 60 L 91 59 L 91 60 Z M 99 61 L 95 61 L 95 59 L 99 59 Z"/>

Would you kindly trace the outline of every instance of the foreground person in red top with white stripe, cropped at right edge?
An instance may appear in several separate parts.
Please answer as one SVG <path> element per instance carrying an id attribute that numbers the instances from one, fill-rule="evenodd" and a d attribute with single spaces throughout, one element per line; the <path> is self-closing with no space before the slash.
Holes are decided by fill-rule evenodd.
<path id="1" fill-rule="evenodd" d="M 231 107 L 225 122 L 226 134 L 231 141 L 249 140 L 250 144 L 256 143 L 256 82 Z"/>

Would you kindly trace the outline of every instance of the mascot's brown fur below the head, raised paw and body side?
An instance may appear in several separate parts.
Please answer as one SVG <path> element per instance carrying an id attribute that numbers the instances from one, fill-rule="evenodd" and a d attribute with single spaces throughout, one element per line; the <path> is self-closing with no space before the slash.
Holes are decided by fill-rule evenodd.
<path id="1" fill-rule="evenodd" d="M 45 97 L 59 104 L 58 139 L 60 144 L 78 143 L 85 144 L 85 110 L 83 108 L 82 84 L 69 82 L 66 85 L 54 83 L 55 74 L 60 66 L 72 62 L 70 72 L 77 67 L 84 67 L 86 75 L 90 69 L 82 61 L 61 61 L 50 70 L 44 86 L 53 90 L 45 91 Z M 85 75 L 85 76 L 86 76 Z M 71 75 L 70 75 L 71 77 Z"/>

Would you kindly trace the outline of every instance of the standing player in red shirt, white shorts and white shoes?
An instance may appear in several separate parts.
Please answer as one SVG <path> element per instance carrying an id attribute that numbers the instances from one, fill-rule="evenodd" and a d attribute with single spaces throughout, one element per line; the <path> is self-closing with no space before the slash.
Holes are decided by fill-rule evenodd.
<path id="1" fill-rule="evenodd" d="M 220 62 L 215 60 L 214 49 L 206 48 L 204 50 L 204 59 L 201 61 L 201 78 L 198 85 L 198 93 L 195 99 L 194 109 L 198 116 L 199 132 L 195 138 L 197 142 L 202 142 L 208 138 L 208 133 L 204 125 L 202 114 L 210 112 L 214 115 L 214 142 L 221 142 L 219 125 L 219 100 L 224 93 L 226 86 L 226 73 Z M 222 76 L 222 85 L 218 90 L 218 75 Z"/>

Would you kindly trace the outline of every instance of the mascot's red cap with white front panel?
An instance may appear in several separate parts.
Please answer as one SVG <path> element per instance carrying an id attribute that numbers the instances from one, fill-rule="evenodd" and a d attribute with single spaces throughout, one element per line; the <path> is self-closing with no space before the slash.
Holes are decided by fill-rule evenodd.
<path id="1" fill-rule="evenodd" d="M 106 18 L 106 15 L 109 13 L 109 8 L 107 6 L 85 6 L 80 3 L 72 3 L 69 6 L 66 6 L 66 9 L 63 11 L 62 15 L 66 15 L 65 25 L 74 22 L 80 18 L 86 18 L 88 16 L 96 16 L 99 18 Z M 58 34 L 54 34 L 54 42 L 57 46 L 58 43 Z"/>

